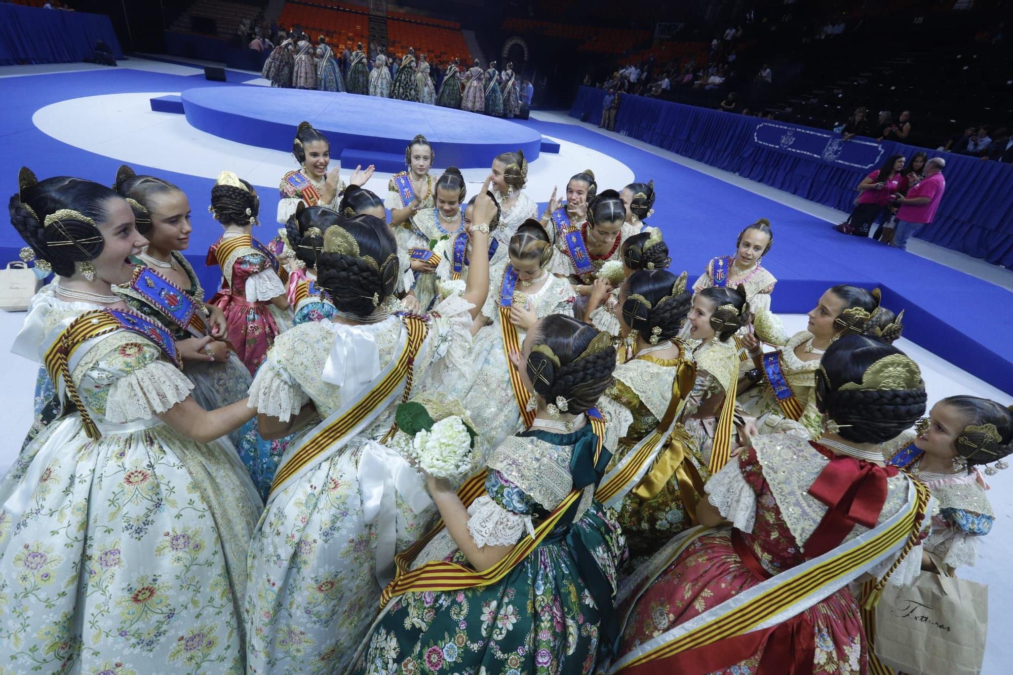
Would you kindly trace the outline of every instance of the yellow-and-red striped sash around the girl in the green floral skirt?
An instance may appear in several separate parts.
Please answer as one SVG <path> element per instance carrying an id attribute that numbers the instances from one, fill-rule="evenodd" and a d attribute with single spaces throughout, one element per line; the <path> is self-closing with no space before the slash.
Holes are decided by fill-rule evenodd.
<path id="1" fill-rule="evenodd" d="M 605 443 L 605 420 L 602 419 L 597 408 L 589 411 L 588 419 L 591 422 L 592 430 L 598 437 L 598 444 L 595 448 L 595 463 L 597 464 Z M 486 474 L 486 471 L 482 471 L 472 476 L 458 491 L 458 497 L 465 507 L 470 506 L 472 502 L 485 494 Z M 380 596 L 380 607 L 386 606 L 392 598 L 405 593 L 415 591 L 459 591 L 476 586 L 488 586 L 489 584 L 498 582 L 510 574 L 511 570 L 524 560 L 531 551 L 538 547 L 542 540 L 555 529 L 569 508 L 580 499 L 582 494 L 583 489 L 570 491 L 570 494 L 563 499 L 559 506 L 535 528 L 534 536 L 531 534 L 525 535 L 524 539 L 515 545 L 510 553 L 484 572 L 475 572 L 474 570 L 469 570 L 463 566 L 445 560 L 430 560 L 422 567 L 409 571 L 408 568 L 414 556 L 421 551 L 422 547 L 438 532 L 444 529 L 444 522 L 441 519 L 428 534 L 415 542 L 408 550 L 394 558 L 396 569 L 394 581 L 384 588 Z"/>

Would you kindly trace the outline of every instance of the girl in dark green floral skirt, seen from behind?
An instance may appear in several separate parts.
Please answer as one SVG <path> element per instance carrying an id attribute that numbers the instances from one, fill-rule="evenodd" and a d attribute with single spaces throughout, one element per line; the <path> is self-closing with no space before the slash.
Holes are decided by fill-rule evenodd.
<path id="1" fill-rule="evenodd" d="M 416 590 L 410 573 L 395 581 L 358 672 L 594 672 L 616 634 L 612 597 L 626 555 L 593 498 L 608 456 L 594 405 L 615 358 L 607 334 L 571 317 L 532 326 L 514 357 L 533 391 L 532 424 L 492 452 L 477 499 L 426 476 L 445 527 L 413 567 L 439 565 L 464 581 L 450 591 Z M 512 554 L 496 581 L 469 581 Z"/>

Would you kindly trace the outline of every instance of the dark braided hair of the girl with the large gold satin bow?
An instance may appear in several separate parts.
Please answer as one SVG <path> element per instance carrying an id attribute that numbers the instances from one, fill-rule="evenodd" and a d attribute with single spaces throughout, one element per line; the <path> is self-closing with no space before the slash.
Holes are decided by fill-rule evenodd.
<path id="1" fill-rule="evenodd" d="M 676 277 L 667 270 L 634 272 L 620 291 L 623 320 L 649 342 L 679 334 L 693 304 L 686 291 L 686 273 Z"/>

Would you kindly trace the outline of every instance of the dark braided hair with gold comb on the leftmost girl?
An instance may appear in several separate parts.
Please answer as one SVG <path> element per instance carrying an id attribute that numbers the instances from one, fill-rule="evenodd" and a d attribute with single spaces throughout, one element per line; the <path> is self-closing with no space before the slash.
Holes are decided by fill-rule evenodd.
<path id="1" fill-rule="evenodd" d="M 59 276 L 71 277 L 77 262 L 102 251 L 104 241 L 97 225 L 108 220 L 110 200 L 122 199 L 112 190 L 66 175 L 40 181 L 28 168 L 18 174 L 18 185 L 19 193 L 7 205 L 10 223 L 36 259 L 48 262 Z M 59 218 L 51 218 L 47 226 L 48 216 Z"/>

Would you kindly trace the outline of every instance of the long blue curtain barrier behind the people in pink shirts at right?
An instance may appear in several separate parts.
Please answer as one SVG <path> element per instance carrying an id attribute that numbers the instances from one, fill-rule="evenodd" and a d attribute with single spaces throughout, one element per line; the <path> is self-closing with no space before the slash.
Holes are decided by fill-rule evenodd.
<path id="1" fill-rule="evenodd" d="M 587 116 L 589 122 L 598 124 L 605 93 L 581 86 L 570 116 Z M 758 129 L 771 124 L 783 127 L 784 135 L 794 143 L 786 139 L 786 147 L 774 148 L 758 142 L 771 139 L 766 133 L 769 129 Z M 925 150 L 929 157 L 946 160 L 946 193 L 935 222 L 922 228 L 919 237 L 1013 268 L 1013 165 L 889 141 L 874 144 L 869 139 L 864 139 L 866 146 L 859 151 L 832 139 L 833 132 L 628 94 L 621 98 L 615 131 L 847 212 L 854 208 L 855 186 L 877 168 L 865 168 L 871 157 L 902 154 L 910 161 L 916 152 Z M 829 140 L 820 141 L 816 136 Z M 798 141 L 801 138 L 811 139 L 806 141 L 811 147 L 804 147 Z M 799 144 L 803 147 L 798 148 Z M 816 146 L 822 152 L 806 152 Z"/>

